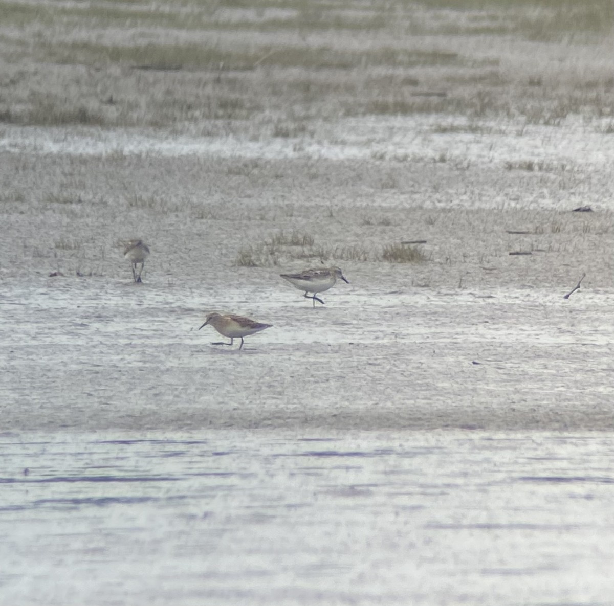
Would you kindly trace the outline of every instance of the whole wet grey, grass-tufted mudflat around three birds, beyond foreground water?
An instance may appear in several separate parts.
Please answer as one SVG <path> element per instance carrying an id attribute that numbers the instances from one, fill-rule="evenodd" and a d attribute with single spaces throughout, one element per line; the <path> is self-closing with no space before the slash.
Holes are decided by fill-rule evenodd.
<path id="1" fill-rule="evenodd" d="M 4 428 L 611 429 L 608 3 L 256 4 L 6 4 Z"/>

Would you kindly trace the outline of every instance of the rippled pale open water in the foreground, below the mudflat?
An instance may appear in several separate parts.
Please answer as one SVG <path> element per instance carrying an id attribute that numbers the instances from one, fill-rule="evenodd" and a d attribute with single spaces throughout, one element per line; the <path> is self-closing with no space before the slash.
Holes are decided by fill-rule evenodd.
<path id="1" fill-rule="evenodd" d="M 612 434 L 0 436 L 1 604 L 612 604 Z"/>

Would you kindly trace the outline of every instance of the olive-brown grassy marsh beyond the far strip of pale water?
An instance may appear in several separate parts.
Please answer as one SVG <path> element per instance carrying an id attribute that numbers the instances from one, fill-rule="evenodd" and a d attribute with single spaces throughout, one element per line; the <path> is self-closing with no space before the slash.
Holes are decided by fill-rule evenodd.
<path id="1" fill-rule="evenodd" d="M 524 117 L 527 125 L 561 126 L 573 114 L 607 118 L 614 105 L 607 70 L 573 82 L 570 75 L 542 75 L 532 64 L 516 76 L 496 53 L 473 52 L 450 35 L 504 34 L 513 47 L 523 39 L 599 42 L 614 21 L 609 0 L 374 0 L 360 7 L 345 0 L 313 6 L 0 0 L 0 12 L 7 31 L 29 36 L 27 43 L 23 36 L 0 37 L 3 56 L 36 66 L 2 81 L 0 121 L 18 125 L 298 139 L 317 132 L 311 120 L 340 115 Z M 369 44 L 361 44 L 363 34 Z M 408 34 L 440 37 L 425 47 L 406 44 Z M 433 132 L 488 134 L 488 126 L 443 120 Z"/>

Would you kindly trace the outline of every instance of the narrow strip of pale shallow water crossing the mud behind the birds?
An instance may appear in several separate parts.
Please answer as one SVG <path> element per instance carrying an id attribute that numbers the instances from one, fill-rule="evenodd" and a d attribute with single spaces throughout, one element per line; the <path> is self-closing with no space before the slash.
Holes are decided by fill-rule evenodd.
<path id="1" fill-rule="evenodd" d="M 472 123 L 448 115 L 344 118 L 334 123 L 314 123 L 310 137 L 202 137 L 143 132 L 137 129 L 4 126 L 0 152 L 33 155 L 150 155 L 181 158 L 188 155 L 217 158 L 258 159 L 343 159 L 387 158 L 408 161 L 432 158 L 465 163 L 545 162 L 548 170 L 571 166 L 602 167 L 609 170 L 614 153 L 612 137 L 602 131 L 609 118 L 589 125 L 569 117 L 565 128 L 530 125 L 523 121 L 483 120 L 481 131 L 462 132 Z M 443 131 L 442 130 L 443 125 Z M 446 132 L 445 129 L 449 129 Z M 458 132 L 461 129 L 461 132 Z M 522 132 L 522 136 L 519 136 Z M 443 158 L 443 159 L 442 159 Z"/>

